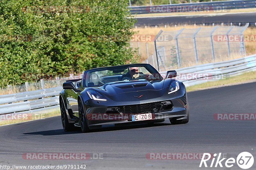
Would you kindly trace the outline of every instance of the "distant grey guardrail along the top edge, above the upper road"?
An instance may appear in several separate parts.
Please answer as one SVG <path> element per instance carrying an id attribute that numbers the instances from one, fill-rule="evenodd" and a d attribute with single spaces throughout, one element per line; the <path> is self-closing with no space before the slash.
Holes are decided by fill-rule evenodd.
<path id="1" fill-rule="evenodd" d="M 235 0 L 235 1 L 214 1 L 214 2 L 198 2 L 198 3 L 184 3 L 184 4 L 166 4 L 166 5 L 152 5 L 152 6 L 130 6 L 132 14 L 147 14 L 147 13 L 164 13 L 164 12 L 183 12 L 182 7 L 194 7 L 211 10 L 231 10 L 243 8 L 256 8 L 255 0 Z M 185 10 L 184 12 L 186 12 Z"/>

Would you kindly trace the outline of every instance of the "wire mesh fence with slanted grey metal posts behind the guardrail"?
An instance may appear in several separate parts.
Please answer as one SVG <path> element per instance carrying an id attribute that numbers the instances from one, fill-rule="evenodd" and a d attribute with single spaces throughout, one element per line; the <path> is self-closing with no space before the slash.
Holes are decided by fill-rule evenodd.
<path id="1" fill-rule="evenodd" d="M 146 49 L 148 55 L 143 63 L 161 71 L 245 56 L 243 33 L 248 25 L 161 30 L 154 44 Z"/>

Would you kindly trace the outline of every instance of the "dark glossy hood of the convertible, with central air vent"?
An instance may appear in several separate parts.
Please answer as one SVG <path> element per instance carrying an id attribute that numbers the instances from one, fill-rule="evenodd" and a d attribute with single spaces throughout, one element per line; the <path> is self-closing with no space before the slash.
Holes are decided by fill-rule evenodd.
<path id="1" fill-rule="evenodd" d="M 141 95 L 141 100 L 148 100 L 164 94 L 163 89 L 167 87 L 164 81 L 163 79 L 151 82 L 147 80 L 113 82 L 93 89 L 114 101 L 131 101 L 140 98 Z"/>

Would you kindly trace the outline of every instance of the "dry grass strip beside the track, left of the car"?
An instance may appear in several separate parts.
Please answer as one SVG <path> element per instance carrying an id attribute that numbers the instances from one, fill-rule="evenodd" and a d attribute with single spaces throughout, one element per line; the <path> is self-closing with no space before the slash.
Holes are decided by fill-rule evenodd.
<path id="1" fill-rule="evenodd" d="M 22 114 L 22 113 L 16 113 L 16 118 L 20 117 L 20 120 L 7 120 L 9 117 L 6 115 L 0 115 L 0 126 L 1 125 L 7 125 L 7 124 L 13 124 L 13 123 L 20 123 L 20 122 L 27 122 L 31 120 L 38 120 L 38 119 L 44 119 L 47 117 L 53 117 L 53 116 L 59 116 L 60 115 L 60 108 L 55 109 L 49 109 L 48 111 L 40 111 L 36 113 L 28 113 L 28 114 Z M 23 119 L 22 119 L 23 117 Z"/>

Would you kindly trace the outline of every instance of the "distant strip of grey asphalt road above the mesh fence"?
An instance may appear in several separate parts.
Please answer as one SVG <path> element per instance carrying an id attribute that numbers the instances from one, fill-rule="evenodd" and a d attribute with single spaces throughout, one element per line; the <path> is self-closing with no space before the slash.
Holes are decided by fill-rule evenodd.
<path id="1" fill-rule="evenodd" d="M 164 16 L 164 17 L 149 17 L 137 18 L 135 26 L 155 26 L 155 25 L 174 25 L 174 24 L 203 24 L 203 23 L 243 23 L 247 22 L 254 24 L 256 22 L 256 12 L 247 13 L 222 13 L 208 15 L 189 15 L 189 16 Z"/>

